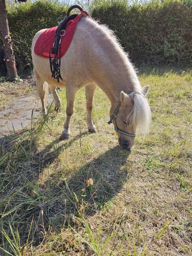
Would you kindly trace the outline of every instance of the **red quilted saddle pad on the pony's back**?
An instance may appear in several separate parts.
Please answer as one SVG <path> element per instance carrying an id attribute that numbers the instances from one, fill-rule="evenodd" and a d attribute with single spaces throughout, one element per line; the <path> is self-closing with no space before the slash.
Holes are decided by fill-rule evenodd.
<path id="1" fill-rule="evenodd" d="M 65 54 L 67 51 L 71 40 L 73 38 L 76 26 L 78 24 L 79 19 L 81 18 L 82 14 L 85 13 L 85 15 L 89 16 L 89 14 L 86 11 L 81 11 L 79 15 L 75 17 L 74 20 L 70 20 L 67 23 L 66 29 L 65 29 L 65 35 L 61 39 L 61 57 Z M 53 47 L 54 40 L 55 40 L 55 31 L 57 27 L 54 28 L 48 28 L 42 34 L 39 36 L 35 43 L 34 52 L 35 54 L 49 58 L 49 52 L 51 48 Z M 54 58 L 54 54 L 51 54 L 51 57 Z M 59 52 L 57 54 L 57 58 L 59 58 Z"/>

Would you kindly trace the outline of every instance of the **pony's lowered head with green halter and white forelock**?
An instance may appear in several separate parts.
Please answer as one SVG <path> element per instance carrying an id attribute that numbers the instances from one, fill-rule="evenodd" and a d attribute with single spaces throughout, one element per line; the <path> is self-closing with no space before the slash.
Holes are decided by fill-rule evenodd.
<path id="1" fill-rule="evenodd" d="M 120 93 L 120 107 L 112 119 L 120 147 L 129 149 L 135 144 L 136 128 L 139 126 L 142 133 L 148 132 L 151 120 L 151 110 L 145 95 L 149 86 L 143 87 L 140 92 Z M 112 104 L 110 116 L 116 110 L 116 103 Z"/>

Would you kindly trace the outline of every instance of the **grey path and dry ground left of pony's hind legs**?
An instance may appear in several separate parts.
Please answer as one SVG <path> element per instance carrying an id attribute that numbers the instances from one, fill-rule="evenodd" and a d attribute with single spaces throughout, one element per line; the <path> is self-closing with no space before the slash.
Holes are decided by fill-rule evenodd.
<path id="1" fill-rule="evenodd" d="M 20 83 L 0 83 L 0 134 L 28 126 L 33 109 L 33 119 L 41 114 L 34 84 L 31 76 L 27 76 Z M 52 95 L 49 95 L 48 102 L 52 100 Z"/>

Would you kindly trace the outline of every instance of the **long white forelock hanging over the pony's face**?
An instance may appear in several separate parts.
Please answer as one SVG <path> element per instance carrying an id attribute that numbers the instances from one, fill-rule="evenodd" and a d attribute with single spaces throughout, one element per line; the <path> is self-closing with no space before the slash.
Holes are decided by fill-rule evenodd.
<path id="1" fill-rule="evenodd" d="M 151 122 L 151 109 L 148 101 L 142 92 L 133 92 L 129 96 L 133 98 L 133 108 L 127 119 L 133 123 L 133 126 L 137 126 L 140 132 L 146 134 L 149 131 Z"/>

